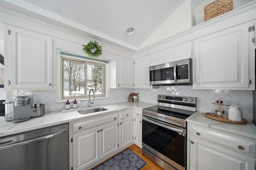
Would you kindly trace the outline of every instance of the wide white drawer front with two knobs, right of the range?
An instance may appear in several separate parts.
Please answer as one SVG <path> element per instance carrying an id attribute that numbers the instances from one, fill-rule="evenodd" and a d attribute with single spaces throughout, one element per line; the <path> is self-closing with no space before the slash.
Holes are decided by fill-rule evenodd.
<path id="1" fill-rule="evenodd" d="M 225 145 L 226 147 L 231 147 L 235 150 L 240 151 L 246 155 L 250 155 L 253 158 L 256 156 L 256 143 L 247 141 L 238 137 L 233 137 L 232 134 L 227 135 L 223 133 L 218 133 L 216 131 L 211 131 L 208 129 L 203 129 L 196 126 L 191 127 L 191 135 L 197 138 L 203 138 L 220 145 Z"/>

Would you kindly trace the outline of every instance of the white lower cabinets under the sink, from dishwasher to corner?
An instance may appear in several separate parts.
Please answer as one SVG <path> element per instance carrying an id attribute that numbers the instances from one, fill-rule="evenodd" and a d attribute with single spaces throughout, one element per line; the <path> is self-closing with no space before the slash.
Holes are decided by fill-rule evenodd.
<path id="1" fill-rule="evenodd" d="M 92 168 L 134 143 L 133 109 L 69 123 L 70 170 Z"/>

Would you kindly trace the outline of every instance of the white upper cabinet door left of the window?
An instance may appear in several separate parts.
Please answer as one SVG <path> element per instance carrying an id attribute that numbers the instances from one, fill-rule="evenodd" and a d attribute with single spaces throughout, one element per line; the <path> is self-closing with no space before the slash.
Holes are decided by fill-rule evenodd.
<path id="1" fill-rule="evenodd" d="M 5 89 L 52 88 L 52 37 L 5 25 L 4 41 Z"/>

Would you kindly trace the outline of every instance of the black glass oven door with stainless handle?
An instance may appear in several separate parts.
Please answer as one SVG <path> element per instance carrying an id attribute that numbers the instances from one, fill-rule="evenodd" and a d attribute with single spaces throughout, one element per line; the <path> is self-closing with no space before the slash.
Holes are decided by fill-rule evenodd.
<path id="1" fill-rule="evenodd" d="M 186 129 L 143 115 L 142 147 L 178 170 L 186 167 Z"/>

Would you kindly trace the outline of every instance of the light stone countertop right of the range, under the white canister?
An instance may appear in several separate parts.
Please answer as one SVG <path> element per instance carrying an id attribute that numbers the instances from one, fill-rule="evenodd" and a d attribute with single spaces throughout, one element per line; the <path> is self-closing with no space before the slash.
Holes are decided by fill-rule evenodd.
<path id="1" fill-rule="evenodd" d="M 201 111 L 197 111 L 190 117 L 186 119 L 187 122 L 195 123 L 198 125 L 211 127 L 213 129 L 218 129 L 238 135 L 242 135 L 245 137 L 250 137 L 252 139 L 256 139 L 256 126 L 254 123 L 247 123 L 244 125 L 232 124 L 232 123 L 224 123 L 220 121 L 216 121 L 205 117 L 202 115 Z"/>

